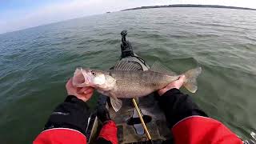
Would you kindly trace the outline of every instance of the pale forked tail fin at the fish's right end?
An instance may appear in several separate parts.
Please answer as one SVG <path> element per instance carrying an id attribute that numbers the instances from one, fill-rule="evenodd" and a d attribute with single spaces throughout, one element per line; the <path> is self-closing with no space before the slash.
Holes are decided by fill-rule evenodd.
<path id="1" fill-rule="evenodd" d="M 186 87 L 187 90 L 189 90 L 191 93 L 195 93 L 198 90 L 198 85 L 197 85 L 197 79 L 198 75 L 201 74 L 202 68 L 197 67 L 192 70 L 186 71 L 184 74 L 186 76 L 186 80 L 183 84 L 183 86 Z"/>

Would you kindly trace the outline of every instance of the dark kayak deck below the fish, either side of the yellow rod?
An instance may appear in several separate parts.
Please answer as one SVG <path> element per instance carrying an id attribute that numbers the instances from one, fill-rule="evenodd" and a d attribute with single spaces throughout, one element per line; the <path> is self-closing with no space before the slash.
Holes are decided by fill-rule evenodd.
<path id="1" fill-rule="evenodd" d="M 110 109 L 110 118 L 116 122 L 118 126 L 118 142 L 119 143 L 133 143 L 146 141 L 146 134 L 143 130 L 142 124 L 138 119 L 133 117 L 134 110 L 133 103 L 130 99 L 122 99 L 123 107 L 118 112 Z M 138 106 L 143 114 L 143 119 L 149 130 L 150 136 L 153 140 L 163 141 L 171 138 L 170 129 L 167 128 L 165 115 L 158 107 L 158 103 L 154 100 L 154 95 L 151 94 L 144 98 L 139 98 Z M 145 119 L 145 117 L 147 119 Z M 129 123 L 130 119 L 134 123 Z M 142 131 L 138 133 L 138 130 Z"/>

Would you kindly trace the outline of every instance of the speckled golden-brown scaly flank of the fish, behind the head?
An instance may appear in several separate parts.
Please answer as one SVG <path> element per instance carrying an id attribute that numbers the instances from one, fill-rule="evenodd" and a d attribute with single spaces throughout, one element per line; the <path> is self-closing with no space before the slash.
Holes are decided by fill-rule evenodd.
<path id="1" fill-rule="evenodd" d="M 178 78 L 178 76 L 173 77 L 153 71 L 135 70 L 111 70 L 110 75 L 116 80 L 111 93 L 118 98 L 144 96 L 163 88 Z"/>

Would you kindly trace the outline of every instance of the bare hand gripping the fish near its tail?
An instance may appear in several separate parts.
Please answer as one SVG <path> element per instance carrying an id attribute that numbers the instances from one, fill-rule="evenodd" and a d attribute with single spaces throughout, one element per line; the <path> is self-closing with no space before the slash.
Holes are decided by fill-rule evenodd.
<path id="1" fill-rule="evenodd" d="M 161 96 L 162 94 L 165 94 L 166 91 L 170 90 L 170 89 L 179 89 L 182 87 L 183 82 L 185 81 L 186 77 L 185 75 L 181 75 L 178 80 L 174 81 L 174 82 L 170 82 L 170 84 L 168 84 L 166 87 L 158 90 L 158 94 Z"/>

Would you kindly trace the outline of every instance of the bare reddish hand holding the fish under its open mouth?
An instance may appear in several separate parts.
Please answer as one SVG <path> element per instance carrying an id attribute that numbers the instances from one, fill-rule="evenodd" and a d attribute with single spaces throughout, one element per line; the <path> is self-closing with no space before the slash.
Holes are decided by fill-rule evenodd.
<path id="1" fill-rule="evenodd" d="M 74 87 L 72 84 L 72 78 L 66 82 L 66 91 L 68 95 L 74 95 L 82 101 L 86 102 L 94 94 L 94 88 L 92 87 Z"/>

